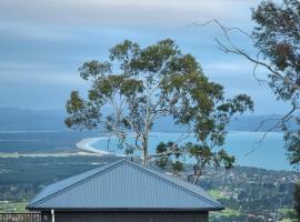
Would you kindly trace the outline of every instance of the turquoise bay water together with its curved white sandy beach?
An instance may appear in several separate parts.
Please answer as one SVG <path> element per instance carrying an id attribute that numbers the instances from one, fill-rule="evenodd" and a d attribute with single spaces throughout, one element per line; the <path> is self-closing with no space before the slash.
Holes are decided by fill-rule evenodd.
<path id="1" fill-rule="evenodd" d="M 254 167 L 267 170 L 292 170 L 284 154 L 286 150 L 282 134 L 280 132 L 270 132 L 263 142 L 257 143 L 263 133 L 264 132 L 230 131 L 223 148 L 227 149 L 228 152 L 234 154 L 237 158 L 237 165 Z M 179 134 L 181 133 L 151 133 L 150 139 L 153 145 L 150 144 L 149 151 L 154 152 L 156 143 L 160 141 L 176 140 Z M 99 155 L 110 154 L 122 157 L 123 153 L 121 151 L 116 150 L 110 152 L 110 150 L 107 149 L 106 140 L 109 137 L 102 135 L 83 139 L 77 144 L 77 147 L 86 152 L 93 152 Z M 110 141 L 110 145 L 116 147 L 116 141 Z M 256 152 L 250 152 L 253 149 Z M 272 157 L 270 157 L 270 153 L 272 153 Z M 138 153 L 134 153 L 134 155 L 138 155 Z M 266 159 L 264 157 L 270 158 Z"/>

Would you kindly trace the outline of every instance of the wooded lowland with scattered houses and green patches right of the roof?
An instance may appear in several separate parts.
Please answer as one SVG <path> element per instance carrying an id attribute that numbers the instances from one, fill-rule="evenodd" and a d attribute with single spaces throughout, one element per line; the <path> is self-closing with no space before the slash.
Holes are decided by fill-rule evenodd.
<path id="1" fill-rule="evenodd" d="M 201 179 L 201 186 L 211 189 L 209 193 L 227 208 L 212 213 L 211 221 L 262 222 L 294 219 L 293 182 L 293 175 L 286 171 L 236 168 L 229 174 L 210 172 Z"/>

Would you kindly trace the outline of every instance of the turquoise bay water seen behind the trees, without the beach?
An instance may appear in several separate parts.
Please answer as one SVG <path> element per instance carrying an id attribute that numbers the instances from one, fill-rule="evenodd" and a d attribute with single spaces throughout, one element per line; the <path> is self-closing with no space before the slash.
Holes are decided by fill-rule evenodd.
<path id="1" fill-rule="evenodd" d="M 177 141 L 180 133 L 152 133 L 149 140 L 150 153 L 154 153 L 159 142 Z M 282 133 L 269 132 L 262 142 L 263 132 L 230 132 L 227 137 L 224 149 L 236 157 L 238 165 L 254 167 L 267 170 L 292 170 L 287 160 L 287 151 L 284 150 L 284 141 Z M 89 142 L 90 141 L 90 142 Z M 190 138 L 186 142 L 194 142 Z M 108 145 L 108 138 L 87 140 L 87 145 L 99 151 L 110 152 L 114 154 L 123 154 L 124 151 L 118 149 L 118 140 L 111 138 Z M 133 142 L 133 138 L 129 139 Z M 259 143 L 258 143 L 259 142 Z M 187 159 L 192 162 L 191 159 Z"/>

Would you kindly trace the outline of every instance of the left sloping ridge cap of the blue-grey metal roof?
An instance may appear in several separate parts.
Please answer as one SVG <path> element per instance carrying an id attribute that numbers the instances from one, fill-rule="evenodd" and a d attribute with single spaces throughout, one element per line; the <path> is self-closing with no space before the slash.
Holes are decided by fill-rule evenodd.
<path id="1" fill-rule="evenodd" d="M 63 191 L 70 190 L 70 189 L 72 189 L 72 188 L 74 188 L 74 186 L 77 186 L 77 185 L 79 185 L 79 184 L 82 184 L 82 183 L 84 183 L 84 182 L 87 182 L 87 181 L 93 179 L 94 176 L 97 176 L 97 175 L 99 175 L 99 174 L 102 174 L 102 173 L 104 173 L 104 172 L 107 172 L 107 171 L 109 171 L 109 170 L 111 170 L 111 169 L 118 167 L 120 163 L 126 162 L 126 161 L 127 161 L 126 159 L 121 159 L 121 160 L 119 160 L 119 161 L 114 161 L 114 162 L 112 162 L 112 163 L 109 163 L 108 165 L 103 165 L 103 167 L 100 167 L 100 168 L 96 168 L 96 169 L 93 169 L 93 170 L 97 170 L 97 169 L 100 170 L 101 168 L 104 168 L 104 169 L 103 169 L 103 170 L 100 170 L 100 171 L 98 171 L 98 172 L 96 172 L 96 173 L 93 173 L 93 174 L 91 174 L 91 175 L 89 175 L 89 176 L 87 176 L 87 178 L 83 178 L 83 179 L 77 181 L 76 183 L 73 183 L 73 184 L 71 184 L 71 185 L 68 185 L 68 186 L 66 186 L 66 188 L 63 188 L 63 189 L 61 189 L 61 190 L 59 190 L 59 191 L 57 191 L 57 192 L 53 192 L 52 194 L 47 195 L 47 196 L 42 198 L 41 200 L 36 201 L 36 202 L 29 204 L 27 208 L 31 208 L 31 206 L 34 206 L 34 205 L 37 205 L 37 204 L 39 204 L 39 203 L 42 203 L 42 202 L 44 202 L 44 201 L 47 201 L 47 200 L 49 200 L 49 199 L 51 199 L 51 198 L 53 198 L 53 196 L 56 196 L 56 195 L 62 193 Z M 91 171 L 92 171 L 92 170 L 91 170 Z M 89 172 L 89 171 L 88 171 L 88 172 Z M 74 175 L 74 176 L 76 176 L 76 175 Z M 68 180 L 68 179 L 64 179 L 64 180 Z M 62 181 L 63 181 L 63 180 L 62 180 Z M 60 182 L 61 182 L 61 181 L 60 181 Z M 59 183 L 59 182 L 58 182 L 58 183 Z"/>

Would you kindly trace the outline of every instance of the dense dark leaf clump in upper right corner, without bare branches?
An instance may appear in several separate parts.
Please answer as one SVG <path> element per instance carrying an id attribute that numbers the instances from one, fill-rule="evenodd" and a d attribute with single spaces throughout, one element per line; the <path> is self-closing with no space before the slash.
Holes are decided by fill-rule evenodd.
<path id="1" fill-rule="evenodd" d="M 300 43 L 300 2 L 284 0 L 281 3 L 262 1 L 253 10 L 252 19 L 257 22 L 253 31 L 256 46 L 269 59 L 286 80 L 270 74 L 270 85 L 278 98 L 290 100 L 294 94 L 293 85 L 299 81 L 299 43 Z"/>

